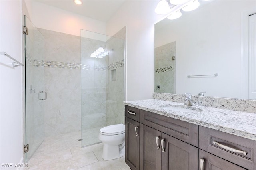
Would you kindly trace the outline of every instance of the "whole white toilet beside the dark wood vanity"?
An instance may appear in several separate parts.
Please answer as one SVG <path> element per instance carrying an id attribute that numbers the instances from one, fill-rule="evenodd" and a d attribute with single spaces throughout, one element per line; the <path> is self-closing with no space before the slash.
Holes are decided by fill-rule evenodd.
<path id="1" fill-rule="evenodd" d="M 106 126 L 100 129 L 99 139 L 103 142 L 102 158 L 112 160 L 124 156 L 124 124 Z"/>

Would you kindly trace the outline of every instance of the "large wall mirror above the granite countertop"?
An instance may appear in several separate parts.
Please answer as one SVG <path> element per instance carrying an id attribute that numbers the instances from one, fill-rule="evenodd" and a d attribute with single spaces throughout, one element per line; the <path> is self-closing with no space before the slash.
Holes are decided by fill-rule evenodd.
<path id="1" fill-rule="evenodd" d="M 154 92 L 255 100 L 256 0 L 199 2 L 155 24 Z"/>

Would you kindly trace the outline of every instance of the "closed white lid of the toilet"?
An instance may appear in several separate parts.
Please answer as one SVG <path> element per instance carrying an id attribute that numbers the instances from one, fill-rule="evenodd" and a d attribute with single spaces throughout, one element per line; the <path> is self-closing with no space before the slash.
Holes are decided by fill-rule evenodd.
<path id="1" fill-rule="evenodd" d="M 115 134 L 124 133 L 124 130 L 125 130 L 124 124 L 120 123 L 117 125 L 109 125 L 104 128 L 101 128 L 100 133 L 105 135 L 115 135 Z"/>

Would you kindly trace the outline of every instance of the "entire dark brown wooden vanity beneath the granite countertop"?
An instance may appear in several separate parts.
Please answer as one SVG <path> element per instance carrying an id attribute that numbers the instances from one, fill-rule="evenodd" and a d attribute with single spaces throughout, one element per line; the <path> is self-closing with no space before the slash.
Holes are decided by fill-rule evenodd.
<path id="1" fill-rule="evenodd" d="M 256 170 L 256 140 L 125 105 L 132 170 Z"/>

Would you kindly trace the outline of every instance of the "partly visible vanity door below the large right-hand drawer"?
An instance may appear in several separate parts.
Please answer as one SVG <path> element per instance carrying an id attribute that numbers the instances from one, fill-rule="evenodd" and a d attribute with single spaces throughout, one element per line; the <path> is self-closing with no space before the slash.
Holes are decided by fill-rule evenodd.
<path id="1" fill-rule="evenodd" d="M 246 170 L 222 158 L 199 149 L 199 170 Z"/>

